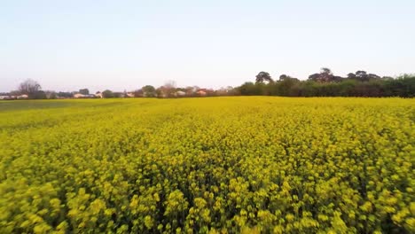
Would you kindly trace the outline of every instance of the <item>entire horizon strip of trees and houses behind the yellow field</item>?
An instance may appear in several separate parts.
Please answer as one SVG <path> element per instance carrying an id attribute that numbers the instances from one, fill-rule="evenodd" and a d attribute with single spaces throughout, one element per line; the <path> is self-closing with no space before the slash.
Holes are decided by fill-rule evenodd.
<path id="1" fill-rule="evenodd" d="M 127 92 L 112 90 L 98 91 L 81 89 L 73 92 L 43 91 L 39 82 L 26 80 L 18 90 L 0 93 L 2 99 L 53 99 L 53 98 L 185 98 L 215 96 L 283 96 L 283 97 L 415 97 L 415 74 L 403 74 L 398 77 L 383 76 L 356 71 L 346 77 L 333 74 L 327 68 L 319 73 L 310 74 L 301 81 L 287 74 L 281 74 L 278 80 L 269 73 L 260 72 L 254 82 L 245 82 L 238 87 L 228 86 L 218 90 L 201 89 L 198 86 L 176 87 L 176 82 L 166 82 L 159 88 L 145 85 L 141 89 Z"/>

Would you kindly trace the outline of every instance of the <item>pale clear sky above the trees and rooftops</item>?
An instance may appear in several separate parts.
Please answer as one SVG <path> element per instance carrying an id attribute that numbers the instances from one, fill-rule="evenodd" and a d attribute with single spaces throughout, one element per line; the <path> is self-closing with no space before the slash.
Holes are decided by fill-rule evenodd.
<path id="1" fill-rule="evenodd" d="M 415 1 L 0 0 L 0 91 L 415 72 Z"/>

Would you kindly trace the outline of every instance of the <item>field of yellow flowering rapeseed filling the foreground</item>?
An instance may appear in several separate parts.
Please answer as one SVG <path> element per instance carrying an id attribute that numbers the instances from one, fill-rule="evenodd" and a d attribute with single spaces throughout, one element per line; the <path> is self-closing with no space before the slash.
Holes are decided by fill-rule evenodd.
<path id="1" fill-rule="evenodd" d="M 415 102 L 0 102 L 0 233 L 413 233 Z"/>

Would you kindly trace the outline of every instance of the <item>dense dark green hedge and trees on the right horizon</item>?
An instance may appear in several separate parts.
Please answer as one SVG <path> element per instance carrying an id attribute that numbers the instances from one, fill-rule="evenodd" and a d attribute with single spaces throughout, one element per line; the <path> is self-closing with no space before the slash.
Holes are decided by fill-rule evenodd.
<path id="1" fill-rule="evenodd" d="M 357 73 L 359 74 L 359 73 Z M 371 74 L 374 75 L 374 74 Z M 317 74 L 309 80 L 281 75 L 277 82 L 246 82 L 237 90 L 242 96 L 284 96 L 284 97 L 415 97 L 415 75 L 392 78 L 363 76 L 362 79 L 349 74 L 349 78 Z M 318 80 L 320 78 L 321 80 Z M 330 79 L 331 78 L 331 79 Z"/>

